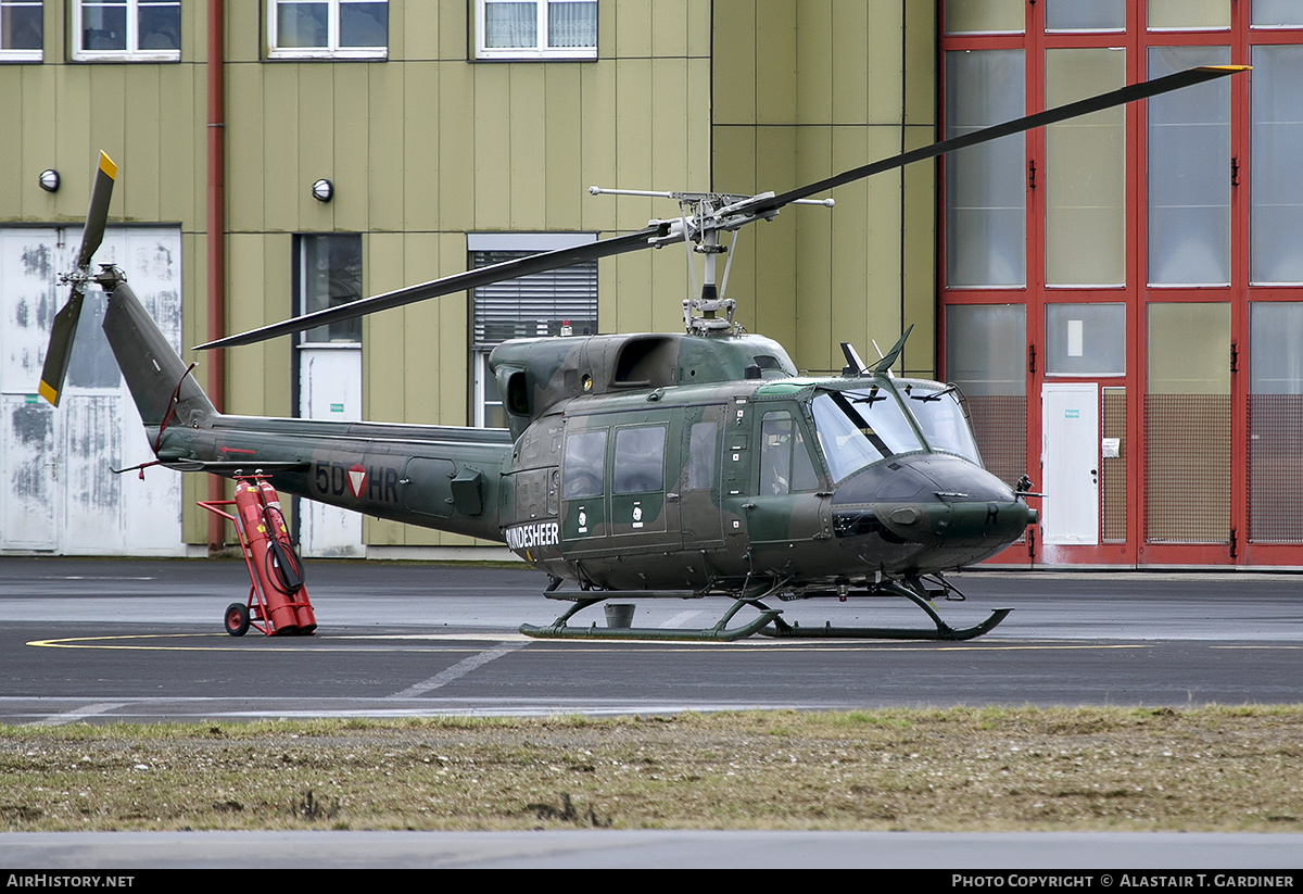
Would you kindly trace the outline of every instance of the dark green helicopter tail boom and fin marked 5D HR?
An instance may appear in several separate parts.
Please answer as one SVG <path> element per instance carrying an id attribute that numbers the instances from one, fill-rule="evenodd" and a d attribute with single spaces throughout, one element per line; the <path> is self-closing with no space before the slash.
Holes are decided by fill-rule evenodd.
<path id="1" fill-rule="evenodd" d="M 219 413 L 121 272 L 107 267 L 95 281 L 109 296 L 104 334 L 162 465 L 225 478 L 262 470 L 285 494 L 502 540 L 507 431 Z"/>

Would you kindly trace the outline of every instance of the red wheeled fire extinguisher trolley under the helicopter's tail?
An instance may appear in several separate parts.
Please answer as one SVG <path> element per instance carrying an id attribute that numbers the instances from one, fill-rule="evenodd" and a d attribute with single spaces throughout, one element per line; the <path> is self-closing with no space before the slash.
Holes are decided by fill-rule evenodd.
<path id="1" fill-rule="evenodd" d="M 304 566 L 289 540 L 280 497 L 266 476 L 237 474 L 235 499 L 199 500 L 198 504 L 235 524 L 249 571 L 249 598 L 232 602 L 223 615 L 227 633 L 244 636 L 250 626 L 267 636 L 317 629 L 317 616 L 304 586 Z M 219 508 L 222 506 L 236 507 L 235 515 Z"/>

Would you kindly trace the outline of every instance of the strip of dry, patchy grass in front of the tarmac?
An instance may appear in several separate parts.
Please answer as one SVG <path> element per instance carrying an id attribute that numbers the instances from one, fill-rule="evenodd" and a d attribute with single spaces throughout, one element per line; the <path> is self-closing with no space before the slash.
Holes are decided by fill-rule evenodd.
<path id="1" fill-rule="evenodd" d="M 0 830 L 1303 831 L 1303 708 L 0 727 Z"/>

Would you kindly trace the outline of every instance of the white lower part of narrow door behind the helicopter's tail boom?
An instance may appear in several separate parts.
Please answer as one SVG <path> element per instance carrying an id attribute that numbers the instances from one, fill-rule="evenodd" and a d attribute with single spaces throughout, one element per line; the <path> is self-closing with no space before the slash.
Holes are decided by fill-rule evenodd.
<path id="1" fill-rule="evenodd" d="M 362 345 L 298 347 L 298 416 L 356 422 L 362 418 Z M 366 555 L 362 516 L 315 500 L 298 500 L 298 547 L 305 556 Z"/>

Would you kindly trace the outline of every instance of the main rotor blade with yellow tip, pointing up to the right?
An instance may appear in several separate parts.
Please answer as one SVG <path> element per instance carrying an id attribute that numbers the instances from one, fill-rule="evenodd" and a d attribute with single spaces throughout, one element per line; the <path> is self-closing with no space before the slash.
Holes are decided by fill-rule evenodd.
<path id="1" fill-rule="evenodd" d="M 1190 87 L 1196 83 L 1226 77 L 1229 74 L 1238 74 L 1239 72 L 1247 72 L 1248 69 L 1248 65 L 1201 65 L 1199 68 L 1188 68 L 1184 72 L 1167 74 L 1161 78 L 1154 78 L 1153 81 L 1141 81 L 1111 93 L 1100 94 L 1098 96 L 1079 99 L 1075 103 L 1049 108 L 1044 112 L 1014 119 L 1012 121 L 1005 121 L 1003 124 L 995 124 L 989 128 L 982 128 L 981 130 L 973 130 L 972 133 L 966 133 L 959 137 L 951 137 L 950 139 L 942 139 L 941 142 L 932 143 L 930 146 L 913 149 L 908 152 L 902 152 L 900 155 L 893 155 L 891 158 L 872 162 L 870 164 L 865 164 L 859 168 L 843 171 L 842 173 L 820 180 L 818 182 L 799 186 L 778 195 L 743 202 L 735 206 L 732 211 L 735 214 L 765 214 L 767 211 L 780 209 L 784 205 L 790 205 L 796 199 L 809 198 L 817 193 L 826 193 L 834 186 L 842 186 L 856 180 L 872 177 L 873 175 L 882 173 L 883 171 L 903 168 L 913 162 L 923 162 L 924 159 L 945 155 L 946 152 L 952 152 L 956 149 L 976 146 L 992 139 L 999 139 L 1001 137 L 1023 133 L 1024 130 L 1031 130 L 1032 128 L 1042 128 L 1046 124 L 1057 124 L 1058 121 L 1065 121 L 1080 115 L 1089 115 L 1091 112 L 1113 108 L 1114 106 L 1124 106 L 1127 103 L 1134 103 L 1138 99 L 1148 99 L 1149 96 L 1157 96 L 1162 93 L 1181 90 L 1182 87 Z"/>

